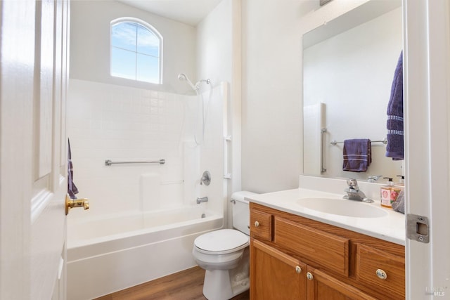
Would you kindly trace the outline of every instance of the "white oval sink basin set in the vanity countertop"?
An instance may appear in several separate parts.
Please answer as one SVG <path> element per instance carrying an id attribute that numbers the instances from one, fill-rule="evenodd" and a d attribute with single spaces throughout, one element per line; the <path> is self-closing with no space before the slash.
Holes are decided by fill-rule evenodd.
<path id="1" fill-rule="evenodd" d="M 375 207 L 373 204 L 339 198 L 311 197 L 297 200 L 297 204 L 307 209 L 339 216 L 380 218 L 387 215 L 387 211 L 380 207 Z"/>

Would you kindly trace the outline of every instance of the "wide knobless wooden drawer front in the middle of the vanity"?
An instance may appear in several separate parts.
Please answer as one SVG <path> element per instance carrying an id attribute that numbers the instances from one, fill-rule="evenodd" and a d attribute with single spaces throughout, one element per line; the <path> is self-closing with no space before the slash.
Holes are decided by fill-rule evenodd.
<path id="1" fill-rule="evenodd" d="M 274 241 L 316 266 L 349 275 L 349 240 L 345 237 L 275 217 Z"/>

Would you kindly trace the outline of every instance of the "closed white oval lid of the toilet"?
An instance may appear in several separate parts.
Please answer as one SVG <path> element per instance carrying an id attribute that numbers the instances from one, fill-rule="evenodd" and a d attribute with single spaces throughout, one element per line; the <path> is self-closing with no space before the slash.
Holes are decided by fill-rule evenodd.
<path id="1" fill-rule="evenodd" d="M 248 236 L 235 229 L 221 229 L 200 235 L 194 244 L 195 247 L 207 252 L 224 252 L 247 247 Z"/>

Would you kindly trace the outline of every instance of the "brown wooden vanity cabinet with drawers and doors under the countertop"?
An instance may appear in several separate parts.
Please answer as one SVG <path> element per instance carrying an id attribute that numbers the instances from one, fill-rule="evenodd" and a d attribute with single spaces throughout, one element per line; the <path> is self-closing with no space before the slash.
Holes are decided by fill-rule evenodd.
<path id="1" fill-rule="evenodd" d="M 250 299 L 404 299 L 404 246 L 250 203 Z"/>

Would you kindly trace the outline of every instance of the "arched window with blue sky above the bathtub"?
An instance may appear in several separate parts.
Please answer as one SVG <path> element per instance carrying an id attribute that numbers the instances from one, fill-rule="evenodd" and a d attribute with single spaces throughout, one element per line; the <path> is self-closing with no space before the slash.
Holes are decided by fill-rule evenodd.
<path id="1" fill-rule="evenodd" d="M 110 74 L 153 84 L 162 83 L 162 37 L 134 18 L 111 22 Z"/>

